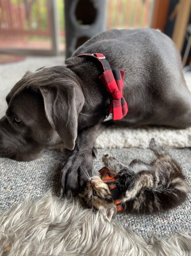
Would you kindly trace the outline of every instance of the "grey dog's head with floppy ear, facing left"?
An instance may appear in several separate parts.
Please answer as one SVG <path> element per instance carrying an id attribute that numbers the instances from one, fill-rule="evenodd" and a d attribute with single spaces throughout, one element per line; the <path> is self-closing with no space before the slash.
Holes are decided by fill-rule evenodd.
<path id="1" fill-rule="evenodd" d="M 66 66 L 27 72 L 6 97 L 0 120 L 0 155 L 32 160 L 43 148 L 61 144 L 72 150 L 84 95 Z"/>

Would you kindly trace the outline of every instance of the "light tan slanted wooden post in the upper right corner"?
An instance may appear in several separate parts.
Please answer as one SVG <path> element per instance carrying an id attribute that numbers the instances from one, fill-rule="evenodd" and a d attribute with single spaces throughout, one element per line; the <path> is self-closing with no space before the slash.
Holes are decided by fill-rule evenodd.
<path id="1" fill-rule="evenodd" d="M 175 45 L 177 46 L 180 52 L 184 44 L 186 28 L 190 17 L 190 8 L 190 0 L 180 0 L 180 6 L 178 14 L 176 16 L 175 26 L 172 34 L 172 40 L 174 41 Z"/>

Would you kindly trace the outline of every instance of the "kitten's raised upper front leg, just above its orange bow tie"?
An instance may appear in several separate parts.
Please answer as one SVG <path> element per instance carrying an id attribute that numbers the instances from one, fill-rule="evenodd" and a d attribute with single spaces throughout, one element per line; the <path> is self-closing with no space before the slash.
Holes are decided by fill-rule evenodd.
<path id="1" fill-rule="evenodd" d="M 110 156 L 109 153 L 102 156 L 102 161 L 112 174 L 116 175 L 122 170 L 128 170 L 126 166 L 122 165 L 114 156 Z"/>

